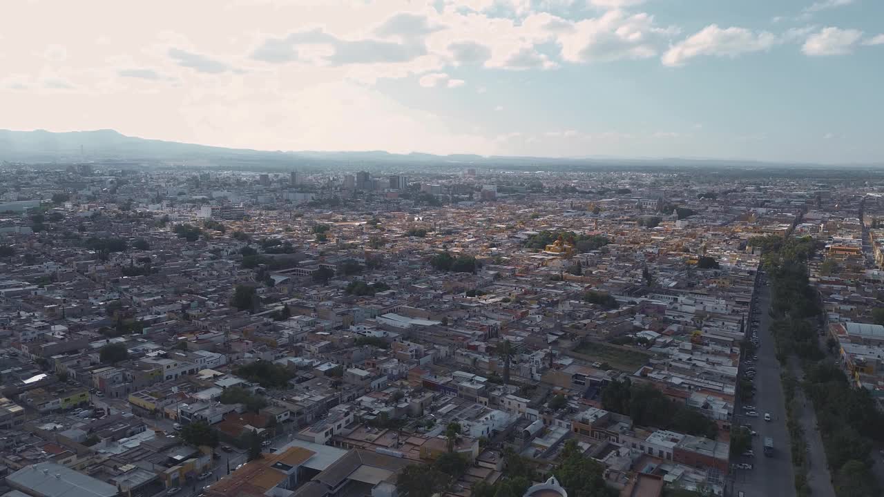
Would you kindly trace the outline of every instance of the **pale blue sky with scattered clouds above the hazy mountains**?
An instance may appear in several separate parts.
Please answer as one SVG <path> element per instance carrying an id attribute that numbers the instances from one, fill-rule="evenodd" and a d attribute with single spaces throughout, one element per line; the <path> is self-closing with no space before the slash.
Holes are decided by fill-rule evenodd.
<path id="1" fill-rule="evenodd" d="M 884 163 L 881 0 L 19 0 L 0 128 Z"/>

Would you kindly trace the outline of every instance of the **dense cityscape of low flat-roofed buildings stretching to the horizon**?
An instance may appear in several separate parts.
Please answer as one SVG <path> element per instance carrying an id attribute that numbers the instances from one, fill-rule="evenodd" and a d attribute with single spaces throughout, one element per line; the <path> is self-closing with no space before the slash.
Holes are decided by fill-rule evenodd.
<path id="1" fill-rule="evenodd" d="M 880 495 L 884 175 L 537 168 L 4 164 L 0 493 Z"/>

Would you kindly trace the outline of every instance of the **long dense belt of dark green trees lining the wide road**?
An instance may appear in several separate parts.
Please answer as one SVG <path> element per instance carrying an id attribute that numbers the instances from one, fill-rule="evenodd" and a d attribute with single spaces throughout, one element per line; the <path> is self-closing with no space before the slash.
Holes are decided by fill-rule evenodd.
<path id="1" fill-rule="evenodd" d="M 764 266 L 773 293 L 771 312 L 776 319 L 771 331 L 778 359 L 785 363 L 789 355 L 795 354 L 804 363 L 804 392 L 816 410 L 835 493 L 839 497 L 880 495 L 871 452 L 872 440 L 884 442 L 884 415 L 876 409 L 872 395 L 865 388 L 851 386 L 844 373 L 826 361 L 819 349 L 811 318 L 818 317 L 822 309 L 807 278 L 807 261 L 813 255 L 814 241 L 809 237 L 783 240 L 768 236 L 752 238 L 749 243 L 764 250 Z M 797 380 L 791 375 L 784 378 L 784 389 L 791 392 L 787 396 L 792 398 Z M 797 409 L 789 410 L 794 413 Z M 800 431 L 796 421 L 789 421 L 790 432 Z M 793 457 L 797 458 L 793 461 L 796 466 L 804 461 L 803 454 Z M 805 474 L 806 470 L 801 476 L 796 474 L 796 488 L 808 493 Z"/>

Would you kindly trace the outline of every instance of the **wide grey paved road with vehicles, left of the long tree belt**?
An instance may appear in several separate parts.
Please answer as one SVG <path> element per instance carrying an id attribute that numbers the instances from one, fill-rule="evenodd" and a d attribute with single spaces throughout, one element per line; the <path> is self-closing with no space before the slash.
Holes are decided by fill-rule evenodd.
<path id="1" fill-rule="evenodd" d="M 795 473 L 792 470 L 792 456 L 789 449 L 789 432 L 786 429 L 786 406 L 783 400 L 780 382 L 780 363 L 777 362 L 773 350 L 773 337 L 769 331 L 771 318 L 767 315 L 770 307 L 770 287 L 762 286 L 758 290 L 757 307 L 761 310 L 758 316 L 760 341 L 758 361 L 755 369 L 755 396 L 751 405 L 755 406 L 758 417 L 743 416 L 743 406 L 736 401 L 734 424 L 751 424 L 758 432 L 752 437 L 754 458 L 737 458 L 738 463 L 752 463 L 752 470 L 734 470 L 734 492 L 743 492 L 746 497 L 776 496 L 791 497 L 795 493 Z M 772 420 L 764 420 L 765 413 L 770 413 Z M 764 455 L 764 439 L 773 437 L 773 457 Z"/>

